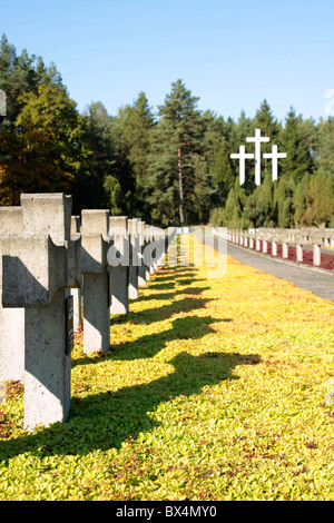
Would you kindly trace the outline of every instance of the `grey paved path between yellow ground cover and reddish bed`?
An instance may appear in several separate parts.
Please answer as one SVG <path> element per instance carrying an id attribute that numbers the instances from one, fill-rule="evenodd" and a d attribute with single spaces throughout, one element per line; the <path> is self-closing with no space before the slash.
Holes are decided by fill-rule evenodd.
<path id="1" fill-rule="evenodd" d="M 214 237 L 205 236 L 207 245 L 214 246 Z M 215 247 L 217 247 L 215 245 Z M 245 265 L 277 278 L 286 279 L 305 290 L 311 290 L 321 298 L 334 302 L 334 272 L 322 272 L 313 267 L 299 267 L 286 262 L 275 260 L 264 255 L 250 253 L 233 244 L 227 245 L 227 255 Z"/>

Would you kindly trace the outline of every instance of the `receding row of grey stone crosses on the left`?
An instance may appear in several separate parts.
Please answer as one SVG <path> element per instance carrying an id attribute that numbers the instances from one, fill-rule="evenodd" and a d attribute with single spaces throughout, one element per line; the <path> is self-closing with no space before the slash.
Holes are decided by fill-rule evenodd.
<path id="1" fill-rule="evenodd" d="M 0 208 L 0 384 L 23 383 L 27 431 L 68 418 L 81 297 L 84 352 L 109 351 L 110 315 L 128 313 L 175 234 L 71 209 L 63 194 L 23 194 Z"/>

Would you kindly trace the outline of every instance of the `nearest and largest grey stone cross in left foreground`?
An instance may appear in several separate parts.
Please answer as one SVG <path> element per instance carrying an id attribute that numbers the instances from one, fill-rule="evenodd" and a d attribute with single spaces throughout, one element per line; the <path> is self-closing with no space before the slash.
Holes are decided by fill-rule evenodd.
<path id="1" fill-rule="evenodd" d="M 80 280 L 80 239 L 71 239 L 71 197 L 21 195 L 21 230 L 0 237 L 2 307 L 23 308 L 24 346 L 3 346 L 24 365 L 24 428 L 66 421 L 73 343 L 70 287 Z M 0 309 L 1 316 L 2 309 Z M 1 323 L 1 322 L 0 322 Z M 12 329 L 21 325 L 11 325 Z"/>

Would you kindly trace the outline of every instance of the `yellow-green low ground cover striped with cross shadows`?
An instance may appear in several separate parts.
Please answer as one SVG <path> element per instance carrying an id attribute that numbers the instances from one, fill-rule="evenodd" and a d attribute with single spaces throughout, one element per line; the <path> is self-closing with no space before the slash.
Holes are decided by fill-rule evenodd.
<path id="1" fill-rule="evenodd" d="M 334 499 L 333 302 L 227 262 L 160 267 L 108 353 L 77 335 L 68 422 L 24 432 L 7 384 L 0 500 Z"/>

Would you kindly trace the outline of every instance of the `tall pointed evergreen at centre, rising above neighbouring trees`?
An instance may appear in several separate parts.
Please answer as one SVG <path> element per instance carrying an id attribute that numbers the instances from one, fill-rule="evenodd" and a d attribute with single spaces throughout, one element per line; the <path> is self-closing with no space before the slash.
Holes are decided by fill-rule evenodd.
<path id="1" fill-rule="evenodd" d="M 149 203 L 164 209 L 168 223 L 176 219 L 177 201 L 180 224 L 196 219 L 198 191 L 206 199 L 213 191 L 203 157 L 204 125 L 197 101 L 181 80 L 174 82 L 159 107 L 159 121 L 153 132 Z M 202 211 L 208 217 L 209 208 Z"/>

